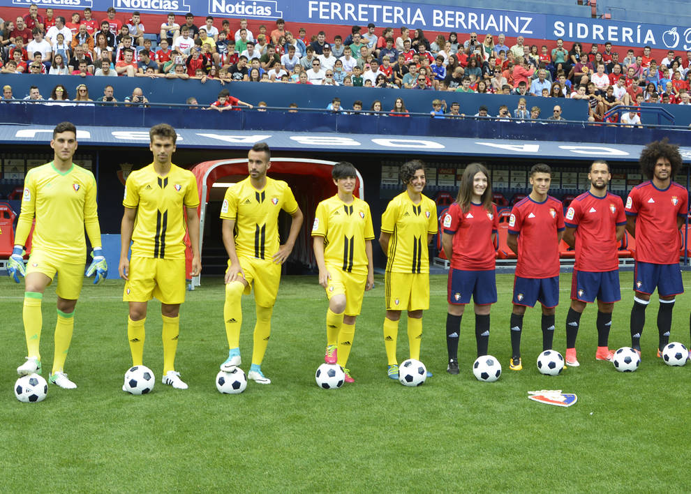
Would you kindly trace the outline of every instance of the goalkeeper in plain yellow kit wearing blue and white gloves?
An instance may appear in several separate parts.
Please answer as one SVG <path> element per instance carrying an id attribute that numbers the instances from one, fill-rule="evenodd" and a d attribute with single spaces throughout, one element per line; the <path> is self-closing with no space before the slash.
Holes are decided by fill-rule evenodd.
<path id="1" fill-rule="evenodd" d="M 96 275 L 94 283 L 107 276 L 107 264 L 101 250 L 101 227 L 96 211 L 96 180 L 89 170 L 72 163 L 77 149 L 77 128 L 62 122 L 53 130 L 50 147 L 54 149 L 52 162 L 27 173 L 22 196 L 22 213 L 17 222 L 15 246 L 8 260 L 8 274 L 24 285 L 24 334 L 27 337 L 27 361 L 17 373 L 27 375 L 41 372 L 40 343 L 43 315 L 41 300 L 45 288 L 56 274 L 57 324 L 55 325 L 55 351 L 49 381 L 64 389 L 77 384 L 64 373 L 67 351 L 72 340 L 74 312 L 82 290 L 87 243 L 84 229 L 93 247 L 93 261 L 87 276 Z M 24 267 L 24 244 L 36 218 L 32 237 L 31 257 Z"/>

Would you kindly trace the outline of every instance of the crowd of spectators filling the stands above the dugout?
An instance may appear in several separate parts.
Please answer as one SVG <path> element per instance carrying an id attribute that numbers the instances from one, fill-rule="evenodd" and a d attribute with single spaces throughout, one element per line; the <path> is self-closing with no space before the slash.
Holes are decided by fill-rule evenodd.
<path id="1" fill-rule="evenodd" d="M 597 44 L 584 50 L 579 42 L 567 48 L 562 39 L 554 47 L 538 47 L 519 36 L 509 47 L 501 33 L 479 38 L 475 32 L 463 38 L 457 33 L 438 35 L 430 42 L 422 29 L 387 27 L 378 33 L 374 24 L 353 26 L 343 39 L 325 31 L 308 36 L 304 28 L 293 32 L 282 19 L 253 33 L 244 19 L 237 25 L 224 19 L 219 26 L 208 16 L 197 26 L 191 13 L 181 24 L 171 13 L 160 27 L 147 30 L 138 12 L 123 23 L 112 7 L 101 22 L 94 20 L 90 8 L 73 13 L 66 22 L 54 16 L 52 8 L 40 14 L 34 4 L 27 15 L 0 21 L 1 73 L 515 94 L 522 103 L 498 117 L 521 120 L 540 113 L 534 106 L 528 110 L 530 96 L 587 100 L 584 118 L 590 121 L 602 121 L 618 105 L 691 104 L 691 51 L 685 57 L 669 51 L 657 61 L 650 46 L 639 54 L 630 49 L 620 59 L 611 43 L 602 51 Z M 68 100 L 66 90 L 62 96 L 53 93 L 53 100 Z M 229 102 L 236 106 L 234 99 L 225 98 L 215 108 L 225 109 Z M 399 100 L 392 114 L 405 113 Z M 556 114 L 559 105 L 554 107 Z M 333 111 L 346 110 L 339 105 Z M 480 110 L 478 115 L 483 116 Z"/>

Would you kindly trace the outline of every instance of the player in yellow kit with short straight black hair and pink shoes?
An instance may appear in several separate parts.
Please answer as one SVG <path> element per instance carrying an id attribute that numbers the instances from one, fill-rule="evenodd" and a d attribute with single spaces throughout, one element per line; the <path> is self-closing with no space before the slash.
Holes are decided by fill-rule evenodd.
<path id="1" fill-rule="evenodd" d="M 374 230 L 369 205 L 352 195 L 357 182 L 355 167 L 341 161 L 334 165 L 332 178 L 338 193 L 318 204 L 312 237 L 319 284 L 329 298 L 324 361 L 345 369 L 362 297 L 374 286 Z M 354 382 L 348 369 L 345 382 Z"/>

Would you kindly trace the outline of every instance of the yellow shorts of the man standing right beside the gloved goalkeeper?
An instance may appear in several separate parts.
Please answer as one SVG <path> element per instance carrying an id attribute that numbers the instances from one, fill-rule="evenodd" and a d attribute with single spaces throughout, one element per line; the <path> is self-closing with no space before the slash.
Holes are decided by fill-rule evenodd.
<path id="1" fill-rule="evenodd" d="M 148 302 L 156 297 L 163 304 L 185 301 L 185 260 L 158 259 L 133 255 L 129 278 L 122 299 L 126 302 Z"/>

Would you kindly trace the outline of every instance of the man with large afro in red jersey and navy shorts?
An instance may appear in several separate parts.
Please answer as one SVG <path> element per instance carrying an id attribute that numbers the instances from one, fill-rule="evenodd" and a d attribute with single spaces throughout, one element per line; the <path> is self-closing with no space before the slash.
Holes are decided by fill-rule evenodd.
<path id="1" fill-rule="evenodd" d="M 669 341 L 672 308 L 684 291 L 679 268 L 679 228 L 688 214 L 688 192 L 672 181 L 681 168 L 678 146 L 667 139 L 648 144 L 639 158 L 648 180 L 631 190 L 626 200 L 626 230 L 636 239 L 634 305 L 631 309 L 631 346 L 641 353 L 646 308 L 657 287 L 659 342 L 657 357 Z"/>

